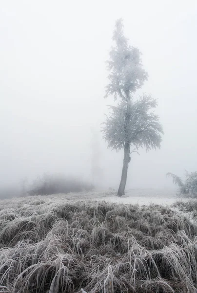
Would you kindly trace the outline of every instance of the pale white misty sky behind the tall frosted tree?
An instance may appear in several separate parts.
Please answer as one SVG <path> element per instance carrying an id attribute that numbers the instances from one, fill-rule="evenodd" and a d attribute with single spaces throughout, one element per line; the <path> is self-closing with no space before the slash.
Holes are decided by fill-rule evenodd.
<path id="1" fill-rule="evenodd" d="M 142 52 L 158 99 L 161 149 L 132 155 L 127 188 L 170 187 L 166 172 L 197 170 L 196 0 L 1 0 L 0 185 L 43 172 L 90 176 L 91 129 L 107 106 L 105 61 L 115 21 Z M 99 135 L 105 187 L 117 187 L 123 152 Z"/>

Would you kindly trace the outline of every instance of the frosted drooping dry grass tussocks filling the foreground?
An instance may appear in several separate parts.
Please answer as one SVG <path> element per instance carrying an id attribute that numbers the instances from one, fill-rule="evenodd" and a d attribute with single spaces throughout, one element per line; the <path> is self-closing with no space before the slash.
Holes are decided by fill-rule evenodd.
<path id="1" fill-rule="evenodd" d="M 197 292 L 197 226 L 162 206 L 0 205 L 0 292 Z"/>

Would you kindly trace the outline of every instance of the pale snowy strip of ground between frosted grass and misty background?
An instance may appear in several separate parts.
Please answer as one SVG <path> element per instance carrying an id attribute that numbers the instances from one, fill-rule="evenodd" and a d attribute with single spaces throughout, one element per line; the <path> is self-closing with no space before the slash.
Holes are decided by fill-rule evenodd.
<path id="1" fill-rule="evenodd" d="M 177 195 L 177 189 L 158 189 L 158 188 L 138 188 L 130 189 L 125 192 L 122 197 L 117 196 L 117 192 L 114 190 L 106 191 L 89 191 L 89 192 L 79 192 L 79 193 L 67 193 L 67 194 L 52 194 L 46 196 L 28 196 L 20 198 L 12 198 L 0 200 L 0 207 L 15 207 L 18 205 L 31 205 L 35 201 L 48 203 L 59 203 L 63 204 L 65 201 L 74 200 L 105 200 L 111 203 L 123 203 L 123 204 L 138 204 L 149 205 L 172 205 L 177 200 L 187 201 L 187 198 L 181 198 Z"/>

